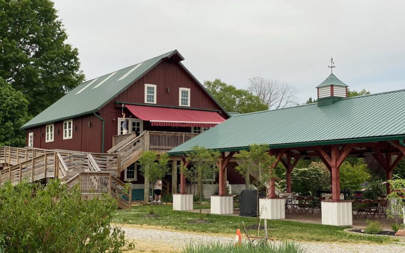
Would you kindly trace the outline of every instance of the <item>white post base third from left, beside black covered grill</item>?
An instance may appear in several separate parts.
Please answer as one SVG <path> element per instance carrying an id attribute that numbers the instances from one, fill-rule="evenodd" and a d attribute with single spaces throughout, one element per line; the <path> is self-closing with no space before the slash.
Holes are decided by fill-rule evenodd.
<path id="1" fill-rule="evenodd" d="M 284 198 L 260 198 L 260 218 L 268 220 L 286 219 L 285 204 Z"/>

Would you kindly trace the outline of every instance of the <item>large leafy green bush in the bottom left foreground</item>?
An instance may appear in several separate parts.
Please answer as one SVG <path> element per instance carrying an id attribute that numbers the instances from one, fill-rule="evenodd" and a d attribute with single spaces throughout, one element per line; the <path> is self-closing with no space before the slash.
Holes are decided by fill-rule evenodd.
<path id="1" fill-rule="evenodd" d="M 124 232 L 111 227 L 116 203 L 108 195 L 83 200 L 78 185 L 51 180 L 0 187 L 0 251 L 118 252 Z"/>

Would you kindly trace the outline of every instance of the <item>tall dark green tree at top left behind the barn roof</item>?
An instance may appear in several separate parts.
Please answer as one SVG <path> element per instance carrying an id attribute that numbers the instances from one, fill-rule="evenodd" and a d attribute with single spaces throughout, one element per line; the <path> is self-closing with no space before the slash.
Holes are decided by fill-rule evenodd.
<path id="1" fill-rule="evenodd" d="M 53 2 L 1 0 L 0 20 L 0 76 L 25 95 L 30 115 L 84 80 Z"/>

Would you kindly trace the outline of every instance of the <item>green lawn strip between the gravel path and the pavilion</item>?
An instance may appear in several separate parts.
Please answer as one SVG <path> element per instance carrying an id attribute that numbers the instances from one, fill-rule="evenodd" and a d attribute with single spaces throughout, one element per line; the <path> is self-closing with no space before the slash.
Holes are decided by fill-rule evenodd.
<path id="1" fill-rule="evenodd" d="M 136 206 L 133 207 L 132 210 L 117 210 L 113 222 L 224 235 L 234 235 L 236 229 L 243 231 L 242 221 L 245 222 L 246 227 L 256 224 L 256 218 L 210 214 L 205 215 L 205 220 L 209 223 L 190 224 L 190 221 L 199 218 L 198 213 L 174 211 L 172 208 L 172 205 L 154 206 L 153 209 L 155 215 L 157 215 L 155 217 L 148 216 L 150 209 L 149 206 Z M 194 206 L 194 208 L 196 209 L 197 206 Z M 267 227 L 268 236 L 276 240 L 351 243 L 384 243 L 393 241 L 393 239 L 387 237 L 356 235 L 343 231 L 349 227 L 336 227 L 280 220 L 268 220 Z M 263 233 L 263 229 L 261 230 L 261 233 Z M 257 230 L 248 230 L 248 234 L 257 236 Z"/>

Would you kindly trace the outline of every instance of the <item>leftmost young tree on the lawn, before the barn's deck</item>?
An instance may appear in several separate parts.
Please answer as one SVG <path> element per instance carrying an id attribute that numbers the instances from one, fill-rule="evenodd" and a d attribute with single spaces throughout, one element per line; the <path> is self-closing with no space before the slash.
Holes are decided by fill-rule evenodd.
<path id="1" fill-rule="evenodd" d="M 153 151 L 145 151 L 139 157 L 139 171 L 145 180 L 149 180 L 149 188 L 153 187 L 158 179 L 163 179 L 166 176 L 169 170 L 168 162 L 168 154 L 163 154 L 157 157 L 156 152 Z M 149 188 L 147 191 L 149 191 Z M 150 206 L 150 212 L 153 214 L 153 205 L 151 204 Z"/>

